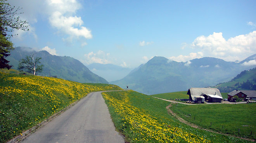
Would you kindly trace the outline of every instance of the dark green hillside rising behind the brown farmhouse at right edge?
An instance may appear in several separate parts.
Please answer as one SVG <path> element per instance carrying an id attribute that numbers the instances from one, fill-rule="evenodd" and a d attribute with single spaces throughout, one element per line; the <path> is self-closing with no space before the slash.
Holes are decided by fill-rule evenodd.
<path id="1" fill-rule="evenodd" d="M 233 90 L 256 90 L 256 68 L 244 70 L 231 81 L 219 83 L 213 87 L 227 93 Z"/>

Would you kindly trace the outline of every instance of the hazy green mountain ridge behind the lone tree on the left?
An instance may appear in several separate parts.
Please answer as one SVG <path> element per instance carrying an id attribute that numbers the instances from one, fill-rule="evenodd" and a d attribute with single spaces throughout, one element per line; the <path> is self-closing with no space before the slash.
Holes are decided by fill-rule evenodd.
<path id="1" fill-rule="evenodd" d="M 43 64 L 43 71 L 38 75 L 57 76 L 58 78 L 81 83 L 109 83 L 106 79 L 91 72 L 80 61 L 72 57 L 51 55 L 45 50 L 38 52 L 28 47 L 16 47 L 6 59 L 10 61 L 9 64 L 13 66 L 13 69 L 17 69 L 19 60 L 31 54 L 35 58 L 42 57 L 40 62 Z"/>

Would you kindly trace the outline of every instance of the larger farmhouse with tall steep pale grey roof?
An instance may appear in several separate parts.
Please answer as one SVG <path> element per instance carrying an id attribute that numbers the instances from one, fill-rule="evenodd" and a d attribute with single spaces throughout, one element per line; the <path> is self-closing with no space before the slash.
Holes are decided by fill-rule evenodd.
<path id="1" fill-rule="evenodd" d="M 217 88 L 194 88 L 191 87 L 187 94 L 190 101 L 195 101 L 195 98 L 204 97 L 205 101 L 209 102 L 221 102 L 222 96 Z"/>

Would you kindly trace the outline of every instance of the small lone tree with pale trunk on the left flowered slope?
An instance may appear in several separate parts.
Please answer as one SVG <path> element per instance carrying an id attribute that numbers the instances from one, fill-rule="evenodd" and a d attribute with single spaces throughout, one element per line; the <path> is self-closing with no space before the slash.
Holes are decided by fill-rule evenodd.
<path id="1" fill-rule="evenodd" d="M 19 61 L 18 69 L 19 70 L 25 69 L 26 71 L 36 75 L 36 72 L 41 72 L 43 70 L 43 65 L 38 65 L 41 63 L 40 59 L 42 58 L 36 57 L 36 59 L 34 59 L 34 55 L 26 56 L 25 59 L 21 59 Z"/>

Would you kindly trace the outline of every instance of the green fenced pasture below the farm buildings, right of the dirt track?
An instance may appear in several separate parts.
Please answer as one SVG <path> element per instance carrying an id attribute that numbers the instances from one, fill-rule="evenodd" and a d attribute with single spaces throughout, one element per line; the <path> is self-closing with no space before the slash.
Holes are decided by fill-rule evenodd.
<path id="1" fill-rule="evenodd" d="M 256 103 L 174 104 L 171 110 L 186 121 L 203 128 L 256 140 Z"/>

